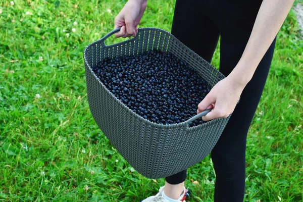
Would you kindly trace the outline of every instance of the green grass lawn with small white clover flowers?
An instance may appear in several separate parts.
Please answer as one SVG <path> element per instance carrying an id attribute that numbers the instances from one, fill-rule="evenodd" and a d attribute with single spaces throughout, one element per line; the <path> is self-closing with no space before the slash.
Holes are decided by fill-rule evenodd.
<path id="1" fill-rule="evenodd" d="M 174 2 L 150 1 L 140 26 L 170 31 Z M 131 171 L 88 107 L 83 50 L 113 29 L 124 4 L 0 1 L 1 201 L 140 201 L 164 184 Z M 245 201 L 303 200 L 302 52 L 290 12 L 247 138 Z M 187 201 L 213 201 L 210 157 L 187 173 Z"/>

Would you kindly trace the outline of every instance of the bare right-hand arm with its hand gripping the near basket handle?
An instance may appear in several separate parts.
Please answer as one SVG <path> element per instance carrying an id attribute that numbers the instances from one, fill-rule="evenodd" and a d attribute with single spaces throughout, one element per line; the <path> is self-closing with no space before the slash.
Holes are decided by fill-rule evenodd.
<path id="1" fill-rule="evenodd" d="M 246 84 L 281 28 L 294 0 L 264 0 L 241 59 L 233 71 L 218 82 L 198 105 L 197 113 L 214 109 L 203 117 L 211 120 L 228 117 Z"/>

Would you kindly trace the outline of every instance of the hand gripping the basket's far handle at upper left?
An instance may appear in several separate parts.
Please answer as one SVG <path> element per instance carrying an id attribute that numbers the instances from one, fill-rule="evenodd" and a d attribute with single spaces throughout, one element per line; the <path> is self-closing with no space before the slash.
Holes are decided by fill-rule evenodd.
<path id="1" fill-rule="evenodd" d="M 115 18 L 115 29 L 121 27 L 116 37 L 136 36 L 138 24 L 146 9 L 147 0 L 129 0 Z"/>

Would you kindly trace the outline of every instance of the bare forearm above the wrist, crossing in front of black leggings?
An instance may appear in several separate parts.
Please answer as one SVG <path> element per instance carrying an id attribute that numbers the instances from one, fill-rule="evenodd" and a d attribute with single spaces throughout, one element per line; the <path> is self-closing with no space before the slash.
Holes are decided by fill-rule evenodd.
<path id="1" fill-rule="evenodd" d="M 294 0 L 264 0 L 241 59 L 230 77 L 245 86 L 281 28 Z"/>

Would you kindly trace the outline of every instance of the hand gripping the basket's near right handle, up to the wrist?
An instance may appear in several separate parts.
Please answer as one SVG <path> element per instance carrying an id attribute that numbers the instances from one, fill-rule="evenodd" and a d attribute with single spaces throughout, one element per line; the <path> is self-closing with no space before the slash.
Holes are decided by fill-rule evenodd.
<path id="1" fill-rule="evenodd" d="M 213 108 L 211 112 L 202 117 L 204 121 L 228 117 L 234 111 L 245 85 L 230 76 L 222 79 L 199 103 L 197 114 Z"/>

